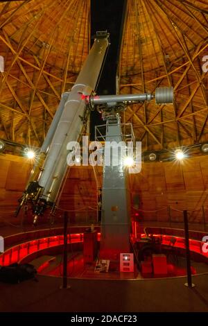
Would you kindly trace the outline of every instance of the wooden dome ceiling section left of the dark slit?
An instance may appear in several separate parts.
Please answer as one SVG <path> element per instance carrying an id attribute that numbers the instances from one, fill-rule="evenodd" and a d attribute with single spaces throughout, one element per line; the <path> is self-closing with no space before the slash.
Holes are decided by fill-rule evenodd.
<path id="1" fill-rule="evenodd" d="M 2 138 L 42 144 L 89 51 L 89 11 L 89 0 L 0 3 Z"/>

